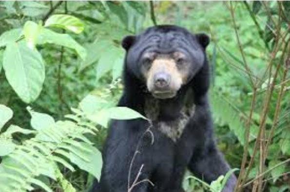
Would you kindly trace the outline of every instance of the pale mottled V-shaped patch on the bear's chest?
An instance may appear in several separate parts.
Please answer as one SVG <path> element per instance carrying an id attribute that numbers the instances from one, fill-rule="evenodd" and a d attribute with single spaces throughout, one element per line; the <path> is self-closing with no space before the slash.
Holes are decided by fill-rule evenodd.
<path id="1" fill-rule="evenodd" d="M 176 142 L 182 135 L 190 118 L 194 115 L 195 105 L 184 106 L 179 113 L 179 117 L 173 121 L 158 121 L 159 103 L 158 100 L 147 99 L 145 102 L 145 114 L 153 123 L 153 128 L 157 129 L 165 136 Z"/>

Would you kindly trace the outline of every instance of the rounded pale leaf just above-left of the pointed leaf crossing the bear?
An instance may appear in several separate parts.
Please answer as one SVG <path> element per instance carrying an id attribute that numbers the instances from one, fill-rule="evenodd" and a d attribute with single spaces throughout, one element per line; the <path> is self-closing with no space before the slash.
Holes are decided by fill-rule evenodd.
<path id="1" fill-rule="evenodd" d="M 94 114 L 107 104 L 106 100 L 89 94 L 79 103 L 79 106 L 85 114 Z"/>

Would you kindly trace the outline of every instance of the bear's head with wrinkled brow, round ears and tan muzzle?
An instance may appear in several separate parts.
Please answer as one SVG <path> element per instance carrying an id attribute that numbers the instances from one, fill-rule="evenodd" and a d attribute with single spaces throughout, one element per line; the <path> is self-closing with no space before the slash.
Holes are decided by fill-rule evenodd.
<path id="1" fill-rule="evenodd" d="M 173 98 L 204 68 L 209 42 L 208 35 L 191 34 L 181 27 L 151 27 L 123 39 L 125 70 L 146 85 L 155 98 Z"/>

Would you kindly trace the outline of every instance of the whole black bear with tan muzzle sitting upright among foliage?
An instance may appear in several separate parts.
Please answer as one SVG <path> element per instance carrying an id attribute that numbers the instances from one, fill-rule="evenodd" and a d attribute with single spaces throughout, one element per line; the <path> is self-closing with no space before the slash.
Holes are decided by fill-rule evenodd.
<path id="1" fill-rule="evenodd" d="M 93 192 L 184 192 L 187 169 L 209 183 L 230 170 L 213 139 L 209 42 L 208 35 L 173 25 L 123 39 L 124 91 L 118 106 L 150 121 L 111 122 Z M 223 192 L 232 192 L 235 182 L 232 175 Z"/>

